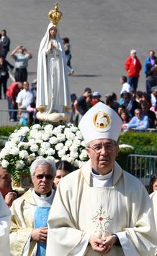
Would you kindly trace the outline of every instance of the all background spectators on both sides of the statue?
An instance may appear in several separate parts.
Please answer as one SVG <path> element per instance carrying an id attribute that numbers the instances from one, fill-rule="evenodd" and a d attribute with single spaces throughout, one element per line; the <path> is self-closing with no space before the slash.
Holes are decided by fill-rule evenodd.
<path id="1" fill-rule="evenodd" d="M 72 75 L 74 70 L 71 67 L 71 46 L 69 38 L 63 38 L 63 46 L 66 54 L 66 64 L 68 74 Z M 11 53 L 14 59 L 14 66 L 6 60 L 10 49 L 10 39 L 6 35 L 6 30 L 1 31 L 0 36 L 0 99 L 3 88 L 4 98 L 8 102 L 9 120 L 20 121 L 22 124 L 36 123 L 36 83 L 29 88 L 27 82 L 28 61 L 32 54 L 24 46 L 17 46 Z M 15 67 L 14 82 L 7 87 L 7 80 L 12 69 Z M 115 93 L 102 95 L 99 92 L 91 92 L 91 88 L 85 88 L 84 93 L 77 97 L 75 93 L 71 94 L 71 122 L 79 124 L 82 116 L 91 106 L 102 101 L 113 108 L 122 118 L 122 130 L 126 132 L 130 129 L 156 129 L 157 114 L 157 59 L 155 51 L 149 51 L 149 56 L 145 60 L 145 92 L 138 90 L 138 79 L 142 64 L 138 59 L 135 50 L 130 51 L 130 56 L 125 61 L 127 77 L 120 77 L 120 101 L 117 101 Z M 27 86 L 26 86 L 27 84 Z"/>

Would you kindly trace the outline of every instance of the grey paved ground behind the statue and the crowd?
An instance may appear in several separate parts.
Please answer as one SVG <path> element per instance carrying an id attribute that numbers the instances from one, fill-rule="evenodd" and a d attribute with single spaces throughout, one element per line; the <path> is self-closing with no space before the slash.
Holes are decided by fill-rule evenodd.
<path id="1" fill-rule="evenodd" d="M 32 52 L 29 82 L 36 77 L 37 51 L 48 26 L 48 11 L 55 1 L 0 0 L 0 30 L 6 29 L 11 49 L 26 46 Z M 60 0 L 63 20 L 61 37 L 71 39 L 75 76 L 69 77 L 71 93 L 81 95 L 85 87 L 102 95 L 120 93 L 119 78 L 125 74 L 124 61 L 136 48 L 143 63 L 150 48 L 156 52 L 156 0 Z M 8 60 L 14 63 L 9 57 Z M 139 87 L 145 90 L 141 72 Z M 0 109 L 6 102 L 0 102 Z"/>

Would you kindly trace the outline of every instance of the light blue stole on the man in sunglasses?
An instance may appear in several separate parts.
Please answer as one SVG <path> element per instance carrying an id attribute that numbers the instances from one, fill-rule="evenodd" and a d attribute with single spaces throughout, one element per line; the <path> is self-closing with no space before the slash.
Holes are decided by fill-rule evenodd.
<path id="1" fill-rule="evenodd" d="M 50 207 L 39 207 L 35 210 L 35 229 L 42 228 L 47 225 L 48 215 L 50 212 Z M 37 254 L 36 256 L 45 256 L 46 254 L 46 243 L 37 243 Z"/>

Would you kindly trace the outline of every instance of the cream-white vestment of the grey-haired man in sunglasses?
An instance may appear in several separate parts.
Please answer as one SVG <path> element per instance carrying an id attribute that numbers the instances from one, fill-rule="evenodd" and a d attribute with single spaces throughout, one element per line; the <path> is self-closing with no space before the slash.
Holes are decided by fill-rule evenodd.
<path id="1" fill-rule="evenodd" d="M 37 242 L 31 240 L 35 229 L 35 210 L 37 206 L 47 207 L 52 204 L 55 191 L 49 197 L 39 197 L 34 189 L 29 189 L 22 197 L 14 200 L 11 211 L 10 256 L 35 256 Z"/>

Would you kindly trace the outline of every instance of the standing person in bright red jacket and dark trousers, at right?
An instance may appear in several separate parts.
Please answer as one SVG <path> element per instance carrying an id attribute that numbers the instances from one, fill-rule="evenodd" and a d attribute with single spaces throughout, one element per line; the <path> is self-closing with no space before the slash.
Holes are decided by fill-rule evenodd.
<path id="1" fill-rule="evenodd" d="M 125 69 L 127 70 L 128 84 L 136 91 L 140 69 L 142 69 L 142 65 L 136 55 L 136 50 L 130 51 L 130 56 L 125 61 Z"/>

